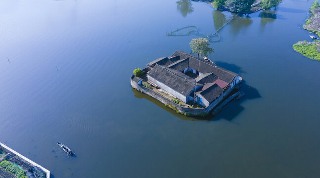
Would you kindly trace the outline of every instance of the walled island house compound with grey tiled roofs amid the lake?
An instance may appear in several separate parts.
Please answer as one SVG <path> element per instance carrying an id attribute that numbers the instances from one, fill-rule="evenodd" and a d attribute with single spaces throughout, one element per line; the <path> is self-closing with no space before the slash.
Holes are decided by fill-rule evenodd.
<path id="1" fill-rule="evenodd" d="M 240 88 L 242 78 L 183 51 L 147 64 L 131 86 L 178 113 L 205 116 Z"/>

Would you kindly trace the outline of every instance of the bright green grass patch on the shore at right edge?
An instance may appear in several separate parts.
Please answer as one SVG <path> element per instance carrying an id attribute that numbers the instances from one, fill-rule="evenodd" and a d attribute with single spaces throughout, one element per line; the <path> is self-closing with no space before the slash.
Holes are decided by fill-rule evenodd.
<path id="1" fill-rule="evenodd" d="M 318 52 L 317 47 L 318 45 L 293 45 L 294 50 L 297 52 L 300 52 L 310 59 L 320 61 L 320 53 Z"/>

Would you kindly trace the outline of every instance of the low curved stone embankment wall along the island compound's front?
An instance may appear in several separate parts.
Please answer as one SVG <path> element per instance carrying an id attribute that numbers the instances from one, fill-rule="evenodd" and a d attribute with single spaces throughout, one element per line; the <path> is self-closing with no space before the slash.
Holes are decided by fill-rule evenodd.
<path id="1" fill-rule="evenodd" d="M 159 100 L 160 102 L 162 102 L 166 106 L 170 107 L 171 109 L 173 109 L 177 112 L 180 112 L 181 114 L 185 114 L 185 115 L 189 115 L 189 116 L 205 116 L 220 103 L 219 102 L 217 104 L 209 105 L 206 108 L 186 108 L 186 107 L 180 106 L 179 104 L 167 99 L 166 97 L 162 96 L 161 94 L 154 92 L 152 89 L 147 89 L 143 86 L 138 85 L 137 82 L 134 82 L 132 80 L 134 77 L 135 76 L 132 75 L 131 80 L 130 80 L 131 86 L 134 89 L 137 89 L 138 91 L 141 91 L 145 94 L 148 94 L 149 96 L 151 96 L 153 98 L 156 98 L 157 100 Z"/>

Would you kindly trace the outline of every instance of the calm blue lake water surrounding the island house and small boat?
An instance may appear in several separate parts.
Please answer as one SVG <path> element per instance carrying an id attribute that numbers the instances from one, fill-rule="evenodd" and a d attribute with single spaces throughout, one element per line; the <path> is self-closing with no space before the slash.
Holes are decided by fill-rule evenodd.
<path id="1" fill-rule="evenodd" d="M 212 34 L 233 16 L 176 1 L 0 0 L 0 142 L 53 178 L 319 177 L 320 62 L 292 48 L 310 40 L 312 1 L 219 31 L 209 58 L 242 76 L 246 96 L 206 120 L 130 86 L 135 68 L 197 38 L 167 32 Z"/>

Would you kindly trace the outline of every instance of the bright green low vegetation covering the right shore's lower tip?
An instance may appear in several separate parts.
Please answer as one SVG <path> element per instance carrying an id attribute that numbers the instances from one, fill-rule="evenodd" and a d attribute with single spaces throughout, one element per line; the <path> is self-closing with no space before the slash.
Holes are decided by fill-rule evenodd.
<path id="1" fill-rule="evenodd" d="M 304 41 L 294 44 L 293 48 L 310 59 L 320 61 L 320 53 L 317 50 L 319 45 L 317 44 L 320 44 L 320 41 L 314 41 L 313 43 Z"/>

